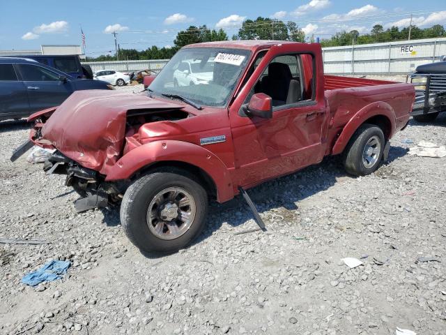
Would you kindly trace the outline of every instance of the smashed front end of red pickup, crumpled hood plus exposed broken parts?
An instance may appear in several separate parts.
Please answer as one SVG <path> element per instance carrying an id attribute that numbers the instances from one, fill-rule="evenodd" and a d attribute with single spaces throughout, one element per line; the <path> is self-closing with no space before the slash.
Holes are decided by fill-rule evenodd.
<path id="1" fill-rule="evenodd" d="M 141 145 L 140 128 L 144 125 L 162 124 L 150 133 L 155 137 L 178 132 L 173 121 L 189 117 L 182 108 L 141 94 L 77 91 L 61 106 L 29 117 L 33 122 L 29 140 L 15 150 L 11 161 L 34 144 L 55 150 L 45 161 L 44 170 L 66 175 L 66 186 L 81 196 L 75 202 L 77 211 L 114 205 L 123 198 L 130 180 L 106 181 L 109 170 Z"/>

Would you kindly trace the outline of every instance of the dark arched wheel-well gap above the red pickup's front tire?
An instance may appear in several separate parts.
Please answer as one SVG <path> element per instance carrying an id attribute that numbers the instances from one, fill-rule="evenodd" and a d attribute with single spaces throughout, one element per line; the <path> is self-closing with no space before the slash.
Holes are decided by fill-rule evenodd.
<path id="1" fill-rule="evenodd" d="M 153 163 L 153 164 L 148 165 L 148 166 L 142 168 L 141 170 L 139 170 L 136 174 L 134 174 L 132 179 L 136 179 L 141 174 L 144 174 L 151 170 L 155 170 L 157 168 L 164 168 L 164 167 L 178 168 L 180 170 L 185 170 L 185 171 L 189 172 L 190 174 L 192 174 L 194 177 L 196 177 L 198 179 L 201 186 L 203 186 L 206 189 L 206 192 L 208 193 L 208 195 L 212 195 L 214 198 L 217 198 L 217 186 L 215 186 L 215 182 L 209 176 L 209 174 L 206 171 L 204 171 L 203 169 L 201 169 L 195 165 L 185 163 L 185 162 L 162 161 L 162 162 Z"/>

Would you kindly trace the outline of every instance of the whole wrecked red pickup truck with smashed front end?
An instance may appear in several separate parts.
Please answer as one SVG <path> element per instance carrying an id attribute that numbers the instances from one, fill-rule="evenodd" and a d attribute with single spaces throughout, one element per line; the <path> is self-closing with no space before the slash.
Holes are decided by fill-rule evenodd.
<path id="1" fill-rule="evenodd" d="M 193 72 L 193 75 L 192 75 Z M 121 202 L 146 251 L 176 251 L 206 223 L 208 198 L 342 154 L 374 172 L 408 123 L 412 84 L 324 75 L 321 46 L 226 41 L 183 47 L 147 91 L 79 91 L 33 114 L 31 141 L 56 149 L 80 210 Z"/>

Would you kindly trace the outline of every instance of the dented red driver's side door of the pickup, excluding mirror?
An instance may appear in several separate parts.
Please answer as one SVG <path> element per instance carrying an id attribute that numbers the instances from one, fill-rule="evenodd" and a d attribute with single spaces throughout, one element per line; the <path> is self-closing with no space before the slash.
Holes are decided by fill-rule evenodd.
<path id="1" fill-rule="evenodd" d="M 320 162 L 324 156 L 327 117 L 323 86 L 321 92 L 317 91 L 320 78 L 314 53 L 273 49 L 254 70 L 256 80 L 248 80 L 246 85 L 252 86 L 243 104 L 230 111 L 240 186 L 299 170 Z M 243 112 L 243 105 L 257 93 L 272 98 L 271 119 L 248 117 Z"/>

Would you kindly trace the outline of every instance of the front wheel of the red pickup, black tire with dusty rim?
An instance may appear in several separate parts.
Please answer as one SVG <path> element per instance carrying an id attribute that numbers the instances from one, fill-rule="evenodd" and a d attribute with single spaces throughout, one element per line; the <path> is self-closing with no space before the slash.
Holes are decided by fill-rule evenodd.
<path id="1" fill-rule="evenodd" d="M 183 170 L 146 174 L 125 191 L 121 225 L 142 251 L 171 253 L 185 248 L 205 225 L 208 195 Z"/>

